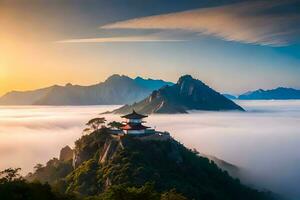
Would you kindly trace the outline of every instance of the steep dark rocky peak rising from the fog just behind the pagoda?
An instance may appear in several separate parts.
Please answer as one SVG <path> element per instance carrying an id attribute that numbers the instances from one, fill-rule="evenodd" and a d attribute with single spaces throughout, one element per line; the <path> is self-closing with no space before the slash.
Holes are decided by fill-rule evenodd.
<path id="1" fill-rule="evenodd" d="M 144 114 L 187 113 L 188 110 L 244 111 L 242 107 L 190 75 L 180 77 L 175 85 L 153 91 L 151 95 L 140 102 L 125 105 L 112 112 L 124 114 L 133 109 Z"/>

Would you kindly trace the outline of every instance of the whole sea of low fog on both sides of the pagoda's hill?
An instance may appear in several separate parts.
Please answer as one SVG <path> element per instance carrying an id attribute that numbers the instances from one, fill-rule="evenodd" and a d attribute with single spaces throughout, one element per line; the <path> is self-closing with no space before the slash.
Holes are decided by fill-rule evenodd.
<path id="1" fill-rule="evenodd" d="M 189 148 L 239 166 L 250 184 L 299 199 L 300 101 L 238 103 L 248 112 L 152 115 L 147 121 Z M 0 107 L 0 169 L 32 171 L 73 146 L 86 121 L 115 107 Z"/>

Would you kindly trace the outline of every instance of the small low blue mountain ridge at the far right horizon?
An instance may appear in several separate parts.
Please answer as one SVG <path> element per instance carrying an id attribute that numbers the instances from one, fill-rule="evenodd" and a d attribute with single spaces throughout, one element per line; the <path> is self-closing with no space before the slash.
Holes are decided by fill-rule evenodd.
<path id="1" fill-rule="evenodd" d="M 300 99 L 300 90 L 293 88 L 278 87 L 271 90 L 255 90 L 246 92 L 238 99 L 241 100 L 287 100 L 287 99 Z"/>

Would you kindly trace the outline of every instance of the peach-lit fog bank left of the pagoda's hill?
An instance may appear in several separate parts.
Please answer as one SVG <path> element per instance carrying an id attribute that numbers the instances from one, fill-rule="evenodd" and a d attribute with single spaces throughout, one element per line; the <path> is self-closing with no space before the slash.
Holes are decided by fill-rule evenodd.
<path id="1" fill-rule="evenodd" d="M 89 119 L 116 106 L 0 108 L 0 171 L 21 167 L 25 175 L 58 157 L 62 147 L 72 147 Z"/>

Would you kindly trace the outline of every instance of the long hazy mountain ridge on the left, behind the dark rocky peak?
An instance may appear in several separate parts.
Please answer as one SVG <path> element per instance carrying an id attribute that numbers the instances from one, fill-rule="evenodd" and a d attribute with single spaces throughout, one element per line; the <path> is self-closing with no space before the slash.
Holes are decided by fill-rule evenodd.
<path id="1" fill-rule="evenodd" d="M 0 105 L 118 105 L 139 101 L 153 90 L 172 84 L 115 74 L 90 86 L 67 84 L 32 91 L 12 91 L 0 98 Z"/>

